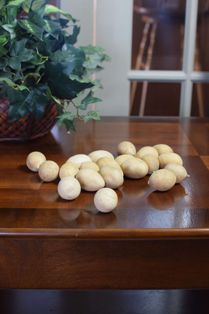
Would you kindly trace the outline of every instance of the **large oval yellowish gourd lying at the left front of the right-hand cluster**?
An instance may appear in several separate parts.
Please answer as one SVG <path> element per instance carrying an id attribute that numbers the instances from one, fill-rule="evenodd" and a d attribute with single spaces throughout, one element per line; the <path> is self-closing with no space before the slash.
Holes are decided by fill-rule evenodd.
<path id="1" fill-rule="evenodd" d="M 125 176 L 135 179 L 146 176 L 149 170 L 145 161 L 138 158 L 130 158 L 123 161 L 121 169 L 123 170 Z"/>

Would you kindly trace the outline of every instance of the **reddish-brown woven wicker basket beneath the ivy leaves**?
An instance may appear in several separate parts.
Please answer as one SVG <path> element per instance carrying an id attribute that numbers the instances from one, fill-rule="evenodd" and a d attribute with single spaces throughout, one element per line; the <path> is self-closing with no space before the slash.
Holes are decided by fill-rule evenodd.
<path id="1" fill-rule="evenodd" d="M 47 135 L 57 122 L 56 104 L 46 107 L 41 122 L 34 119 L 31 113 L 17 121 L 7 122 L 9 100 L 0 94 L 0 142 L 24 142 Z"/>

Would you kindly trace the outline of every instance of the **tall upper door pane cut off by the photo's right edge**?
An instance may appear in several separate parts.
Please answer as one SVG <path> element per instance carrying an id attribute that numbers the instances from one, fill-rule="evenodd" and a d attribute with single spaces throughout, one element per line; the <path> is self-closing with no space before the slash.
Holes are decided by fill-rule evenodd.
<path id="1" fill-rule="evenodd" d="M 197 32 L 196 32 L 196 53 L 195 53 L 195 71 L 209 71 L 209 1 L 199 0 Z"/>

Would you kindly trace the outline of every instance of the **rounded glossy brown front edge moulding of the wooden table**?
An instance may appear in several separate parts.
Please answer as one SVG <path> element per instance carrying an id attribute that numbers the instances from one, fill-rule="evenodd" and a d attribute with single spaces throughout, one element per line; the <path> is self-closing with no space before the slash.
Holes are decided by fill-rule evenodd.
<path id="1" fill-rule="evenodd" d="M 0 239 L 123 240 L 123 241 L 209 239 L 209 228 L 169 228 L 169 229 L 0 228 Z"/>

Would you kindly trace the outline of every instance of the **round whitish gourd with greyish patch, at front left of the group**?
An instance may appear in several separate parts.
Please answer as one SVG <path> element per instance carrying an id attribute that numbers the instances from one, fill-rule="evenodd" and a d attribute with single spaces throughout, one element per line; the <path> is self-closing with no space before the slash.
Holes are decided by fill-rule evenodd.
<path id="1" fill-rule="evenodd" d="M 81 186 L 76 178 L 65 176 L 58 183 L 57 191 L 64 199 L 75 199 L 81 193 Z"/>

